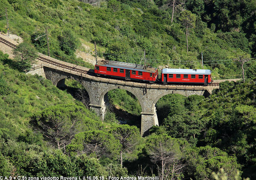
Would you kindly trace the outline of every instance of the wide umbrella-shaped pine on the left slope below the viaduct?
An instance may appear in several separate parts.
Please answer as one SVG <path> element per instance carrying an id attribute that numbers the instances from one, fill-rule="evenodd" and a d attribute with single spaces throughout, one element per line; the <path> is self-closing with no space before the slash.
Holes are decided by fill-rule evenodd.
<path id="1" fill-rule="evenodd" d="M 34 114 L 31 117 L 31 123 L 58 149 L 62 149 L 82 129 L 101 128 L 100 123 L 86 117 L 88 113 L 84 106 L 62 104 L 51 106 Z"/>

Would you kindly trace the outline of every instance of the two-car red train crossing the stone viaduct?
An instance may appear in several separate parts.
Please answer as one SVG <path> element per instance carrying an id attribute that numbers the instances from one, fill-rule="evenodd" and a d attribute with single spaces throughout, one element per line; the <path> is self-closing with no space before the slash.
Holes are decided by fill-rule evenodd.
<path id="1" fill-rule="evenodd" d="M 164 68 L 161 71 L 161 79 L 158 78 L 157 68 L 141 64 L 124 63 L 117 61 L 98 61 L 94 73 L 98 76 L 109 76 L 134 81 L 146 81 L 154 83 L 161 81 L 163 84 L 211 84 L 211 71 L 209 69 L 171 69 Z"/>

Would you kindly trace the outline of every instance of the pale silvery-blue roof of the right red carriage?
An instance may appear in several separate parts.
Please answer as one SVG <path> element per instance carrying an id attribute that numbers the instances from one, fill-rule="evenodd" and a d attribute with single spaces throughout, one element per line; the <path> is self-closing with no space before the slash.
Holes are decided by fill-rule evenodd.
<path id="1" fill-rule="evenodd" d="M 206 74 L 210 75 L 211 70 L 209 69 L 171 69 L 163 68 L 162 74 Z"/>

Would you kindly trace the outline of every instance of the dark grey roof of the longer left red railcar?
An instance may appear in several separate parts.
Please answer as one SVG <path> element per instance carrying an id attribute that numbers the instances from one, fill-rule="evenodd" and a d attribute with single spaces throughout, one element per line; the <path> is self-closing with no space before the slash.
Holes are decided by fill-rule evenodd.
<path id="1" fill-rule="evenodd" d="M 137 70 L 137 71 L 144 71 L 144 72 L 152 72 L 154 73 L 157 68 L 153 68 L 151 66 L 144 66 L 142 64 L 134 64 L 134 63 L 125 63 L 125 62 L 118 62 L 118 61 L 98 61 L 97 65 L 99 66 L 107 66 L 112 68 L 124 68 L 128 70 Z"/>

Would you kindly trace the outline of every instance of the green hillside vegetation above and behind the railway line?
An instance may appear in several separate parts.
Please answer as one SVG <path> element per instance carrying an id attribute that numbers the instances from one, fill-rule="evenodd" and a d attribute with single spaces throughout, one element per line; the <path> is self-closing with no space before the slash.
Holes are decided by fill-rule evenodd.
<path id="1" fill-rule="evenodd" d="M 253 1 L 179 0 L 175 2 L 173 21 L 172 2 L 167 0 L 84 2 L 2 0 L 0 12 L 4 14 L 7 7 L 11 32 L 45 54 L 46 39 L 34 39 L 47 28 L 51 55 L 81 65 L 84 63 L 74 52 L 77 48 L 83 50 L 82 43 L 93 48 L 94 41 L 100 56 L 115 61 L 140 63 L 145 50 L 146 63 L 152 66 L 201 68 L 202 52 L 205 68 L 223 79 L 241 74 L 235 58 L 256 55 Z M 1 17 L 0 31 L 6 32 L 5 26 L 5 17 Z"/>

